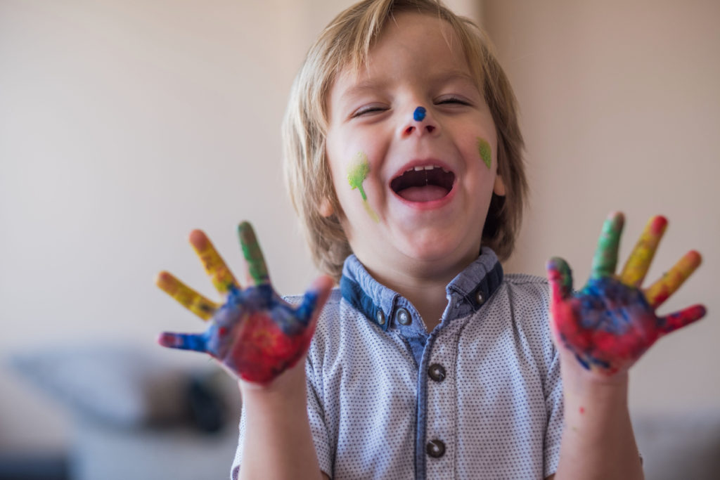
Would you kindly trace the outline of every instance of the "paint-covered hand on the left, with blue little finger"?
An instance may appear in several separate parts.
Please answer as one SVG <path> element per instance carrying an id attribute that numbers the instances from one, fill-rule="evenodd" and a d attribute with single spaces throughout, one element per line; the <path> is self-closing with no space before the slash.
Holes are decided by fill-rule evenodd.
<path id="1" fill-rule="evenodd" d="M 299 307 L 292 307 L 272 288 L 265 260 L 248 222 L 238 226 L 240 245 L 248 263 L 248 284 L 242 289 L 207 236 L 190 233 L 190 243 L 202 260 L 215 289 L 225 296 L 216 304 L 161 272 L 156 284 L 186 309 L 210 320 L 204 333 L 162 333 L 158 343 L 168 348 L 205 352 L 240 379 L 269 384 L 305 355 L 315 332 L 318 314 L 328 299 L 333 281 L 317 279 Z"/>

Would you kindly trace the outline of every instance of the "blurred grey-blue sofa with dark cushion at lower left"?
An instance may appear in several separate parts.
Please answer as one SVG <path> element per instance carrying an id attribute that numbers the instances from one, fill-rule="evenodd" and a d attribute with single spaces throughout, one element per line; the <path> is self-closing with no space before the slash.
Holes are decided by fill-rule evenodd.
<path id="1" fill-rule="evenodd" d="M 0 455 L 0 480 L 229 478 L 240 392 L 212 361 L 186 358 L 127 345 L 11 356 L 12 369 L 65 407 L 72 426 L 60 456 Z"/>

